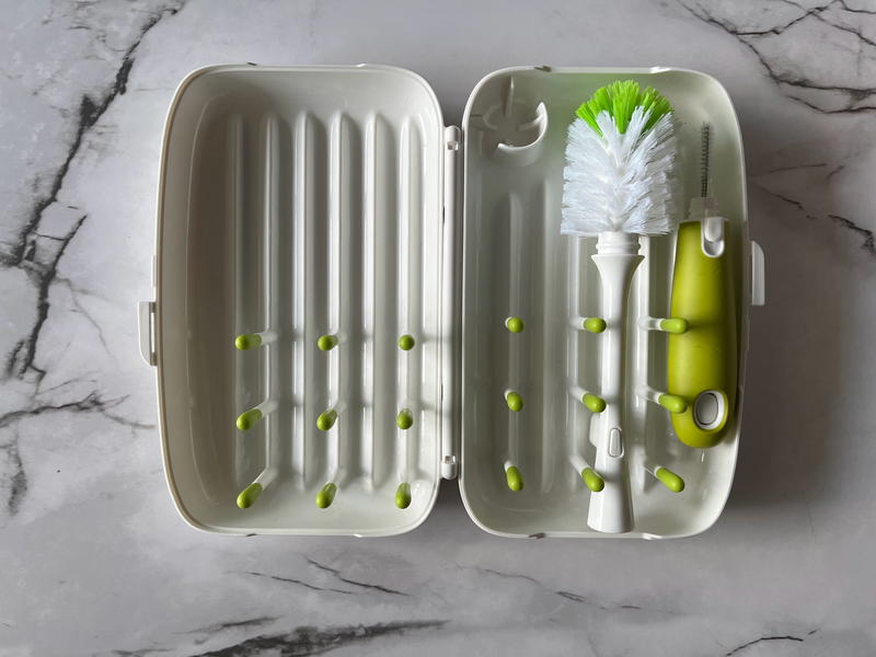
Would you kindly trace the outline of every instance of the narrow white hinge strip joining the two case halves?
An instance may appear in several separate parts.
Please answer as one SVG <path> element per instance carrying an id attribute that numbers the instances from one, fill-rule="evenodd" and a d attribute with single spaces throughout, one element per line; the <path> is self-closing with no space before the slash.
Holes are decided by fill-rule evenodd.
<path id="1" fill-rule="evenodd" d="M 462 284 L 460 217 L 462 199 L 462 130 L 445 128 L 445 198 L 441 239 L 441 476 L 454 479 L 459 473 L 460 436 L 460 365 Z"/>

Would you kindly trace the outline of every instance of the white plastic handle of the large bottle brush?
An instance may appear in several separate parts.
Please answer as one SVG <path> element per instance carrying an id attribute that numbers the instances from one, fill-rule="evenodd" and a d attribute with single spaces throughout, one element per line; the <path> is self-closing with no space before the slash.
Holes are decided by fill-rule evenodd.
<path id="1" fill-rule="evenodd" d="M 643 257 L 638 255 L 638 238 L 626 233 L 600 234 L 597 252 L 592 258 L 602 280 L 602 319 L 607 324 L 601 336 L 600 395 L 607 406 L 602 413 L 593 415 L 590 436 L 596 445 L 593 468 L 606 481 L 606 487 L 590 493 L 587 525 L 597 531 L 624 533 L 633 529 L 626 463 L 629 436 L 621 426 L 626 298 L 630 281 Z"/>

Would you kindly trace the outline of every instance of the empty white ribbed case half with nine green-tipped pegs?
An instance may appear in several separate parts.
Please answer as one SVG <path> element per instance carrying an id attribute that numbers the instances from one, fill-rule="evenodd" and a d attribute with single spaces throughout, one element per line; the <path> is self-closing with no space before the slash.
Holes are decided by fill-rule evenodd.
<path id="1" fill-rule="evenodd" d="M 191 523 L 385 535 L 428 515 L 453 470 L 445 157 L 438 101 L 402 69 L 221 66 L 180 85 L 141 315 Z"/>

